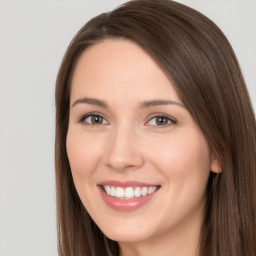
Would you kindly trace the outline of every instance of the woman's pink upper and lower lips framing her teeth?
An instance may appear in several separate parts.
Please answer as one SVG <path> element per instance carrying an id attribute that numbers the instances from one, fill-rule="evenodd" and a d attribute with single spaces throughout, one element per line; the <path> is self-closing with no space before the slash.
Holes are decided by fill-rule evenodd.
<path id="1" fill-rule="evenodd" d="M 155 192 L 153 192 L 152 194 L 149 194 L 146 196 L 132 198 L 132 199 L 119 199 L 119 198 L 107 195 L 102 188 L 103 185 L 123 187 L 123 188 L 157 186 L 158 189 Z M 143 207 L 144 205 L 150 203 L 150 201 L 153 199 L 153 197 L 159 191 L 160 186 L 148 184 L 148 183 L 137 182 L 137 181 L 120 182 L 120 181 L 115 181 L 115 180 L 109 180 L 109 181 L 103 181 L 100 184 L 98 184 L 98 188 L 99 188 L 102 199 L 110 208 L 112 208 L 116 211 L 131 212 L 131 211 L 135 211 L 135 210 Z"/>

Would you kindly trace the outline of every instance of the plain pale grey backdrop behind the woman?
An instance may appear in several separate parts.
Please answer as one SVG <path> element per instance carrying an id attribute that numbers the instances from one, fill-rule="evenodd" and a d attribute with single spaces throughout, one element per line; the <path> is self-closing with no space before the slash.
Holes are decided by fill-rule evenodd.
<path id="1" fill-rule="evenodd" d="M 118 0 L 0 0 L 0 255 L 56 256 L 54 86 L 64 52 Z M 179 1 L 229 38 L 256 106 L 256 1 Z"/>

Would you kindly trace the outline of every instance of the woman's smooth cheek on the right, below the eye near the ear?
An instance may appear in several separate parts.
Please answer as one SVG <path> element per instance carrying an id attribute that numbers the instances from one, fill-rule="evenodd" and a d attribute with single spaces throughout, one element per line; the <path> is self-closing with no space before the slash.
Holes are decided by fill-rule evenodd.
<path id="1" fill-rule="evenodd" d="M 173 195 L 184 195 L 184 198 L 202 195 L 211 163 L 209 147 L 201 132 L 176 133 L 158 145 L 158 150 L 149 158 L 165 177 Z"/>

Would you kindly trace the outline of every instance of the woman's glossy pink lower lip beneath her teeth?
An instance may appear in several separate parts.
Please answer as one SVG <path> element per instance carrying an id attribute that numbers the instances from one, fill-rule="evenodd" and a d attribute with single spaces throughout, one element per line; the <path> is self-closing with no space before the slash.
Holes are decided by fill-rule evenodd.
<path id="1" fill-rule="evenodd" d="M 141 196 L 133 199 L 119 199 L 113 196 L 107 195 L 100 187 L 100 193 L 103 200 L 108 206 L 116 211 L 131 212 L 139 209 L 140 207 L 147 204 L 156 194 L 158 190 L 147 196 Z"/>

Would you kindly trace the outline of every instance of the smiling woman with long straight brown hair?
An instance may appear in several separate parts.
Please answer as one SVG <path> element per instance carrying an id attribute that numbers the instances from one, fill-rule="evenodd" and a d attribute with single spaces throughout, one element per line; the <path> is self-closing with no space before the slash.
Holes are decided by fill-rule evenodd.
<path id="1" fill-rule="evenodd" d="M 56 113 L 60 255 L 255 255 L 255 116 L 208 18 L 168 0 L 93 18 Z"/>

